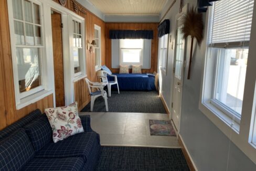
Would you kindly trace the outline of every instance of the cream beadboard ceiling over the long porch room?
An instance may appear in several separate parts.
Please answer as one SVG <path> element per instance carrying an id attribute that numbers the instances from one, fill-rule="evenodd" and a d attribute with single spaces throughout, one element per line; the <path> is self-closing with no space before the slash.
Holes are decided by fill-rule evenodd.
<path id="1" fill-rule="evenodd" d="M 105 15 L 159 15 L 167 0 L 87 0 Z"/>

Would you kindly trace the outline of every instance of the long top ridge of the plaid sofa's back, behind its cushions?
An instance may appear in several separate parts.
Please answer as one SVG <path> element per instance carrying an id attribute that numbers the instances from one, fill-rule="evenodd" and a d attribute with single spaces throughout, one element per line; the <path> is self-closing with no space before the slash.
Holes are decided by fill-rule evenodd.
<path id="1" fill-rule="evenodd" d="M 8 136 L 12 132 L 18 130 L 19 128 L 21 128 L 23 126 L 25 126 L 29 122 L 35 120 L 38 116 L 40 116 L 40 114 L 41 114 L 41 111 L 39 109 L 37 109 L 37 110 L 29 113 L 28 115 L 26 115 L 22 119 L 18 120 L 17 122 L 13 123 L 12 125 L 7 126 L 5 129 L 0 131 L 0 139 Z"/>

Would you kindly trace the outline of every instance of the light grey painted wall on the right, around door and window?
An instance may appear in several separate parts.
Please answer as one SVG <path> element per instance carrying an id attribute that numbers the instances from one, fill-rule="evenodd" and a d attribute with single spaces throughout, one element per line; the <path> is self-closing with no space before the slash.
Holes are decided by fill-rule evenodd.
<path id="1" fill-rule="evenodd" d="M 196 5 L 196 0 L 186 0 L 184 4 Z M 175 38 L 175 16 L 179 10 L 179 1 L 168 12 L 165 19 L 170 19 L 172 39 Z M 163 14 L 165 11 L 163 11 Z M 161 14 L 161 16 L 163 16 Z M 204 14 L 205 18 L 205 14 Z M 204 19 L 205 20 L 205 19 Z M 172 40 L 172 41 L 173 41 Z M 187 39 L 186 68 L 183 83 L 182 115 L 180 120 L 180 136 L 186 144 L 198 170 L 256 170 L 256 165 L 240 149 L 229 141 L 216 125 L 198 109 L 202 62 L 204 60 L 205 41 L 201 47 L 195 45 L 190 80 L 187 80 L 191 39 Z M 172 70 L 174 51 L 168 48 L 167 76 L 162 74 L 162 94 L 170 108 L 172 102 Z"/>

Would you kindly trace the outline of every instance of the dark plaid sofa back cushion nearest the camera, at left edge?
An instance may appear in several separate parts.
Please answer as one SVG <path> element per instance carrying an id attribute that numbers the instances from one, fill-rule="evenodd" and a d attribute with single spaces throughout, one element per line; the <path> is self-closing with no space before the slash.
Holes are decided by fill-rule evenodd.
<path id="1" fill-rule="evenodd" d="M 0 170 L 20 170 L 34 155 L 25 130 L 19 129 L 0 142 Z"/>

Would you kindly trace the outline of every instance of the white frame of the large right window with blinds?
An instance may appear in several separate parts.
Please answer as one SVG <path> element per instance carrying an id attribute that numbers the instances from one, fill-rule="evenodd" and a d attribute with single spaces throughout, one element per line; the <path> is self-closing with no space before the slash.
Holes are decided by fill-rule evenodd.
<path id="1" fill-rule="evenodd" d="M 199 110 L 204 113 L 208 119 L 214 123 L 218 129 L 222 131 L 241 151 L 246 154 L 251 161 L 256 164 L 256 142 L 253 143 L 253 131 L 254 131 L 254 120 L 256 119 L 254 114 L 256 112 L 256 90 L 255 90 L 255 79 L 256 72 L 255 71 L 255 63 L 256 58 L 254 58 L 254 54 L 256 54 L 256 40 L 252 39 L 252 37 L 256 36 L 256 18 L 254 17 L 256 14 L 256 3 L 254 3 L 253 8 L 253 18 L 252 18 L 252 28 L 251 28 L 251 40 L 249 44 L 249 54 L 248 54 L 248 65 L 247 65 L 247 75 L 246 82 L 244 85 L 244 98 L 243 99 L 243 108 L 240 126 L 236 124 L 231 125 L 232 120 L 227 116 L 223 111 L 216 108 L 215 105 L 211 104 L 210 99 L 212 95 L 212 87 L 214 84 L 210 80 L 214 80 L 214 65 L 210 65 L 210 63 L 215 63 L 214 58 L 209 58 L 210 51 L 208 49 L 208 34 L 210 27 L 210 14 L 211 7 L 208 8 L 206 14 L 206 29 L 205 29 L 205 39 L 202 42 L 202 46 L 205 46 L 205 58 L 203 58 L 202 62 L 202 79 L 201 79 L 201 89 L 200 89 L 200 100 L 199 100 Z M 255 91 L 254 91 L 255 90 Z M 237 131 L 239 130 L 239 132 Z"/>

